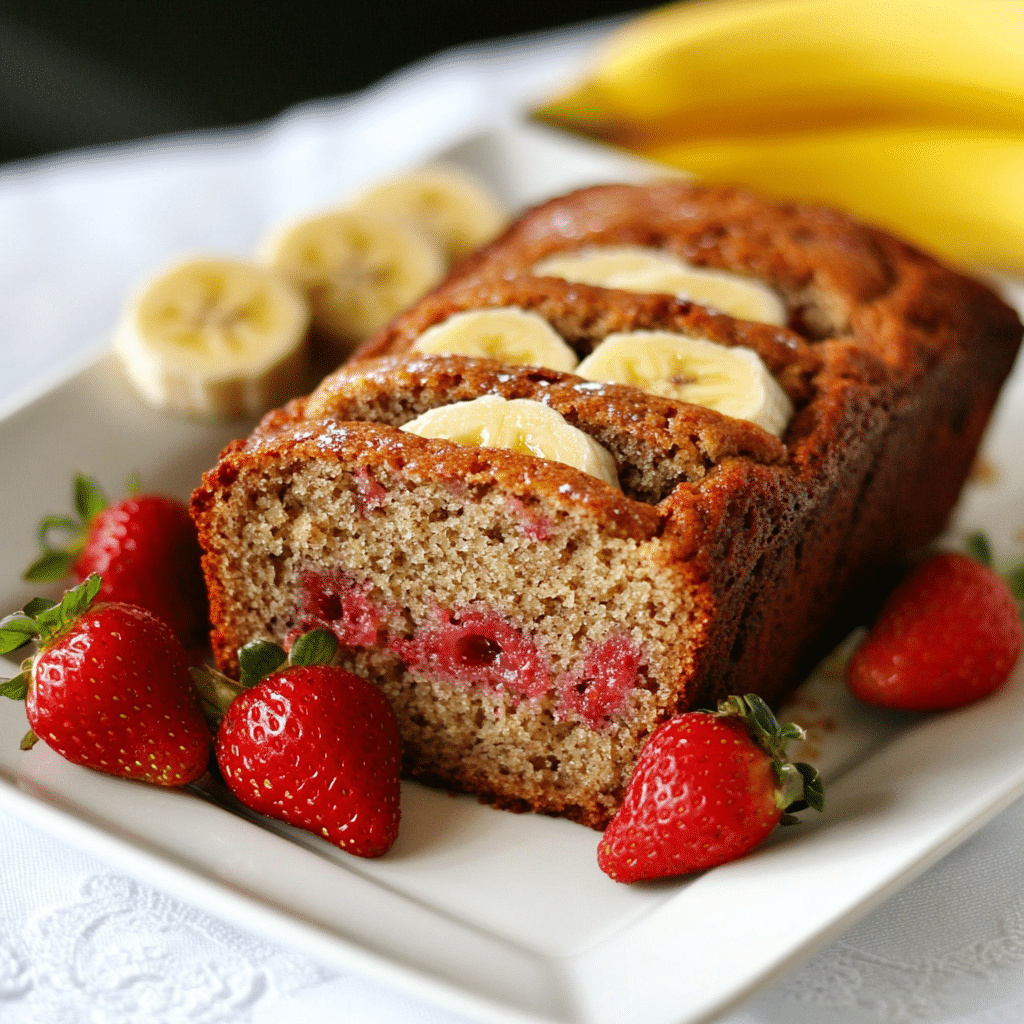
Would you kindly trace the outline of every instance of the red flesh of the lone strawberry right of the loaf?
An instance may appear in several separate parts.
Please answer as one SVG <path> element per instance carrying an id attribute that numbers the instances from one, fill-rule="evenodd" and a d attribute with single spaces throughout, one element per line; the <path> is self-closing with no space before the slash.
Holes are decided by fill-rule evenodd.
<path id="1" fill-rule="evenodd" d="M 1001 686 L 1020 651 L 1020 613 L 1006 583 L 967 555 L 933 555 L 889 595 L 847 682 L 885 708 L 958 708 Z"/>

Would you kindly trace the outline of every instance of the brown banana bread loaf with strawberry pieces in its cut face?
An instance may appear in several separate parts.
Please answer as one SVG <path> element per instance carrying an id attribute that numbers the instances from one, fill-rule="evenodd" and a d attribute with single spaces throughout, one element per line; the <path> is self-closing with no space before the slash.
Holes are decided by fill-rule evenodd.
<path id="1" fill-rule="evenodd" d="M 643 278 L 663 256 L 696 294 Z M 573 259 L 642 273 L 556 275 Z M 703 271 L 765 289 L 776 322 L 701 305 Z M 787 419 L 770 432 L 683 400 L 689 371 L 652 394 L 586 362 L 416 351 L 498 308 L 574 357 L 612 336 L 751 351 Z M 777 701 L 942 528 L 1020 337 L 987 288 L 831 211 L 679 183 L 552 200 L 206 474 L 193 512 L 218 664 L 330 629 L 394 706 L 410 773 L 603 827 L 657 724 L 730 692 Z M 482 396 L 543 406 L 614 475 L 525 428 L 501 447 L 478 427 L 420 435 Z"/>

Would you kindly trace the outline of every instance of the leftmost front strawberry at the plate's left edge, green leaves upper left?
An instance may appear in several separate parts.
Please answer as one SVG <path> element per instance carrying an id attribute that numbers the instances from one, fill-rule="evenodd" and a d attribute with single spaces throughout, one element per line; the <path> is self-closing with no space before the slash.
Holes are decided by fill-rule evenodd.
<path id="1" fill-rule="evenodd" d="M 0 653 L 36 640 L 38 652 L 0 692 L 25 699 L 32 731 L 75 764 L 157 785 L 202 775 L 211 737 L 184 648 L 145 608 L 93 604 L 98 575 L 59 604 L 37 598 L 0 623 Z"/>

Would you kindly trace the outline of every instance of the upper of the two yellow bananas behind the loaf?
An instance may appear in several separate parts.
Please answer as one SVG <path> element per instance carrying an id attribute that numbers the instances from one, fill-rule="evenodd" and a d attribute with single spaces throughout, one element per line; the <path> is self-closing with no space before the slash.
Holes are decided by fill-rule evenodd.
<path id="1" fill-rule="evenodd" d="M 615 136 L 839 124 L 1024 128 L 1013 0 L 690 0 L 612 34 L 552 116 Z"/>

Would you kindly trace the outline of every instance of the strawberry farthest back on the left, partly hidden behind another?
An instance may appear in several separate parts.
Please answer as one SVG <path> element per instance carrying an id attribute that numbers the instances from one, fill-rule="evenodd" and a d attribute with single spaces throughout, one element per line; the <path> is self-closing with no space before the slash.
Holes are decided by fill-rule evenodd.
<path id="1" fill-rule="evenodd" d="M 39 525 L 43 554 L 25 572 L 32 583 L 74 573 L 103 580 L 99 598 L 148 608 L 186 646 L 204 641 L 206 585 L 196 525 L 187 508 L 164 495 L 131 494 L 111 505 L 99 484 L 75 477 L 78 518 L 48 515 Z M 51 534 L 70 540 L 55 547 Z"/>

